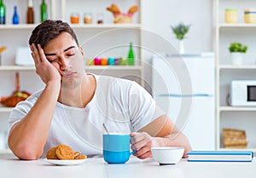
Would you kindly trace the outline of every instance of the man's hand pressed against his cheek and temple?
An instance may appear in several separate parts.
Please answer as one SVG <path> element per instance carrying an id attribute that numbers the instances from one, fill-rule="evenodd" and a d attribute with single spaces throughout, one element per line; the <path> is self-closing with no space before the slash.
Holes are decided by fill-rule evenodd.
<path id="1" fill-rule="evenodd" d="M 43 80 L 45 84 L 49 81 L 60 81 L 61 82 L 61 74 L 58 70 L 53 66 L 49 60 L 47 60 L 44 55 L 44 49 L 41 48 L 41 45 L 38 44 L 38 49 L 34 43 L 30 46 L 32 50 L 32 58 L 35 62 L 36 72 L 38 76 Z"/>

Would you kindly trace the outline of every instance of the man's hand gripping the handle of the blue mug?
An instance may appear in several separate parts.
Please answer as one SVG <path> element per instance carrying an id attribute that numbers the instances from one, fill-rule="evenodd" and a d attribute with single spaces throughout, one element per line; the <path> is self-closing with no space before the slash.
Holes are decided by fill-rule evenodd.
<path id="1" fill-rule="evenodd" d="M 158 146 L 157 138 L 146 132 L 132 132 L 130 136 L 131 149 L 137 151 L 134 156 L 142 159 L 152 157 L 151 147 Z"/>

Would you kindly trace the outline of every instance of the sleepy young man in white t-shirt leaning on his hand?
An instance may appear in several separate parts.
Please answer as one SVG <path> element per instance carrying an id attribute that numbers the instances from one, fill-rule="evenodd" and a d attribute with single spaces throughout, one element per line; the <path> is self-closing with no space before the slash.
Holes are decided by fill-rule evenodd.
<path id="1" fill-rule="evenodd" d="M 137 158 L 152 157 L 151 146 L 183 146 L 184 156 L 191 150 L 139 84 L 84 72 L 84 51 L 67 23 L 45 20 L 33 30 L 29 44 L 45 88 L 9 116 L 9 148 L 18 158 L 44 158 L 59 144 L 101 155 L 102 123 L 110 132 L 131 133 Z"/>

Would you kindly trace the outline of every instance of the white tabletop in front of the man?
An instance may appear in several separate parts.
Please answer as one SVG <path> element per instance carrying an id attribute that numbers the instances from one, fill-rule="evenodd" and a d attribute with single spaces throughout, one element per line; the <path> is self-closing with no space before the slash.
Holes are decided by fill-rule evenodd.
<path id="1" fill-rule="evenodd" d="M 88 158 L 84 164 L 56 166 L 44 159 L 21 161 L 1 158 L 3 178 L 255 178 L 253 163 L 190 163 L 186 159 L 176 165 L 160 166 L 153 158 L 131 158 L 126 164 L 106 164 L 102 158 Z"/>

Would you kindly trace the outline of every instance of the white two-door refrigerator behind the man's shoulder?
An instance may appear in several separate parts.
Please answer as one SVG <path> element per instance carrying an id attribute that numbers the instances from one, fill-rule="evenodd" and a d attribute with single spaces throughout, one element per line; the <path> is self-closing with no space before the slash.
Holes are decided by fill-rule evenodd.
<path id="1" fill-rule="evenodd" d="M 215 150 L 214 54 L 154 55 L 152 95 L 193 150 Z"/>

